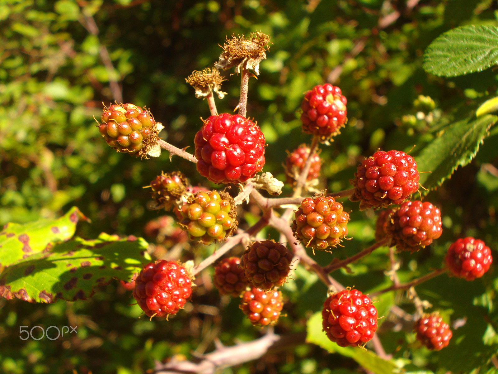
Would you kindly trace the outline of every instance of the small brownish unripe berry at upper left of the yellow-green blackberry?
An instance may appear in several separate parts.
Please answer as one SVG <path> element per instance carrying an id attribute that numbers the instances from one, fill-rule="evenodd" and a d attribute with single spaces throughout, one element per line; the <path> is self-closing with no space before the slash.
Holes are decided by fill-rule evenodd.
<path id="1" fill-rule="evenodd" d="M 156 208 L 171 209 L 173 202 L 180 199 L 187 191 L 187 178 L 180 172 L 162 173 L 157 176 L 150 187 Z"/>

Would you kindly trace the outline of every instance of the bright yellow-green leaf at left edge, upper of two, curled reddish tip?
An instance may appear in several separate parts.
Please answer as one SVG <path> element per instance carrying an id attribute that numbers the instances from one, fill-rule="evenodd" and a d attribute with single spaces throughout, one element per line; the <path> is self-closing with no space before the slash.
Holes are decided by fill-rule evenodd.
<path id="1" fill-rule="evenodd" d="M 40 252 L 50 251 L 54 243 L 70 239 L 79 219 L 88 219 L 75 206 L 58 219 L 40 219 L 18 224 L 7 223 L 0 231 L 0 272 Z"/>

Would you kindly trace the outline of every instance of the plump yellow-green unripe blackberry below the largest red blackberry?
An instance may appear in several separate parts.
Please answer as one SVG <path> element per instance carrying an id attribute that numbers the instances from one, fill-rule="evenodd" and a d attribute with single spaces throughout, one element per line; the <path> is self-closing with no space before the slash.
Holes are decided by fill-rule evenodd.
<path id="1" fill-rule="evenodd" d="M 239 224 L 234 199 L 227 192 L 199 191 L 177 213 L 190 239 L 206 245 L 232 236 Z"/>

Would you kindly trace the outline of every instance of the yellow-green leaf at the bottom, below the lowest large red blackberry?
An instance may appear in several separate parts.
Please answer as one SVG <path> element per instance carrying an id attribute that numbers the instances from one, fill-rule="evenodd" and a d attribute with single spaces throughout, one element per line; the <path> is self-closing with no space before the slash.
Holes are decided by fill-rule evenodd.
<path id="1" fill-rule="evenodd" d="M 327 338 L 327 335 L 322 328 L 322 313 L 315 313 L 306 324 L 308 343 L 316 344 L 322 347 L 329 353 L 338 353 L 340 355 L 352 358 L 364 369 L 371 371 L 375 374 L 389 374 L 398 373 L 398 366 L 394 365 L 391 361 L 383 360 L 372 351 L 368 351 L 358 347 L 339 347 L 336 343 Z"/>

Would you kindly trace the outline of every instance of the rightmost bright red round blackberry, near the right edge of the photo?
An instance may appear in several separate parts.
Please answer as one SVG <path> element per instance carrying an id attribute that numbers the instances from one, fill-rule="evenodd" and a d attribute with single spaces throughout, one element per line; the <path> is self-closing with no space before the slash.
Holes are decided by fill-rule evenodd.
<path id="1" fill-rule="evenodd" d="M 450 245 L 445 261 L 454 276 L 474 280 L 481 278 L 490 269 L 493 257 L 484 241 L 466 237 Z"/>

